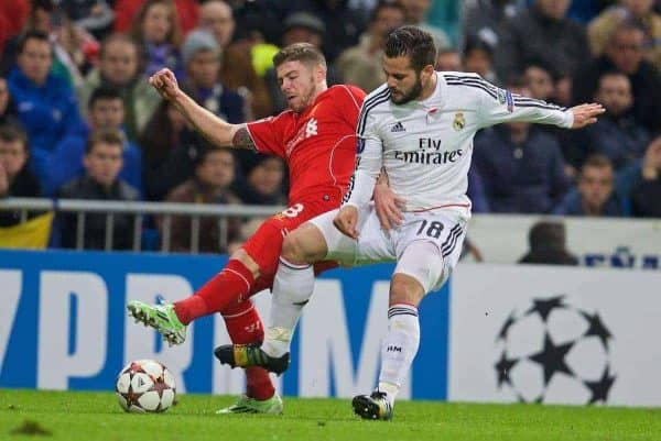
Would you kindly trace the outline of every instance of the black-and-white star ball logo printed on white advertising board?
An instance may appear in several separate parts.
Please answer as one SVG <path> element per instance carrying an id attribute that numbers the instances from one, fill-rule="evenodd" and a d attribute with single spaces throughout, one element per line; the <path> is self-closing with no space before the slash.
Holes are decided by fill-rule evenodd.
<path id="1" fill-rule="evenodd" d="M 606 403 L 617 377 L 613 340 L 598 312 L 565 296 L 533 299 L 512 310 L 496 337 L 498 389 L 521 403 Z"/>

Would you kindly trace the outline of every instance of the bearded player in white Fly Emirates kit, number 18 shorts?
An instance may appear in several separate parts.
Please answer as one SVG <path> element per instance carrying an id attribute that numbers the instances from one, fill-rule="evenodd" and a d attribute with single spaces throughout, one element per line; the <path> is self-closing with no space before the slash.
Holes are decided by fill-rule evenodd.
<path id="1" fill-rule="evenodd" d="M 285 238 L 263 344 L 216 350 L 231 366 L 260 365 L 281 373 L 289 365 L 294 327 L 313 293 L 313 263 L 397 261 L 379 384 L 353 400 L 354 411 L 367 419 L 392 417 L 394 398 L 418 352 L 418 305 L 445 283 L 459 258 L 470 218 L 466 189 L 475 133 L 505 121 L 579 129 L 604 112 L 599 104 L 563 109 L 524 98 L 476 74 L 435 71 L 432 36 L 414 26 L 393 31 L 384 53 L 387 82 L 362 104 L 356 172 L 343 207 Z M 379 207 L 379 217 L 370 200 L 381 172 L 399 206 L 391 198 Z"/>

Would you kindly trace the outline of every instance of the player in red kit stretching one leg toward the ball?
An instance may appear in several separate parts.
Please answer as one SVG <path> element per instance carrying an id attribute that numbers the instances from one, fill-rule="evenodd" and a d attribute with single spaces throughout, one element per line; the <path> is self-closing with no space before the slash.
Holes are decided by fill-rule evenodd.
<path id="1" fill-rule="evenodd" d="M 354 173 L 356 124 L 365 92 L 344 85 L 328 88 L 324 56 L 307 43 L 281 49 L 273 64 L 290 109 L 247 124 L 229 124 L 195 103 L 169 69 L 150 78 L 212 143 L 281 156 L 290 169 L 289 208 L 266 220 L 198 291 L 175 304 L 129 302 L 129 315 L 156 329 L 171 344 L 184 342 L 189 322 L 214 312 L 223 315 L 232 343 L 261 342 L 264 331 L 250 296 L 273 285 L 284 235 L 339 207 Z M 219 412 L 282 412 L 267 371 L 251 367 L 246 375 L 246 396 Z"/>

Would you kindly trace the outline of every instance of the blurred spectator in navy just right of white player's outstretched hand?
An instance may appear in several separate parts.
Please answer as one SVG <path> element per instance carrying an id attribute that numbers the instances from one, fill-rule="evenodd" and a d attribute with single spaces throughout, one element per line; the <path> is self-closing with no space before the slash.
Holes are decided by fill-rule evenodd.
<path id="1" fill-rule="evenodd" d="M 608 156 L 616 170 L 640 159 L 650 135 L 630 112 L 633 96 L 629 78 L 617 71 L 602 75 L 594 101 L 603 104 L 606 113 L 582 133 L 588 152 Z"/>

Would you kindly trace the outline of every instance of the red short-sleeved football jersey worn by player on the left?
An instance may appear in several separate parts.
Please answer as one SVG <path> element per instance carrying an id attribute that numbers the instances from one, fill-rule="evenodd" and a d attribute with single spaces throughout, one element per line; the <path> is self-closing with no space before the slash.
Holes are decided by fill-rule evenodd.
<path id="1" fill-rule="evenodd" d="M 342 198 L 354 173 L 364 99 L 355 86 L 333 86 L 302 113 L 286 110 L 247 124 L 258 152 L 286 162 L 290 202 L 319 192 Z"/>

